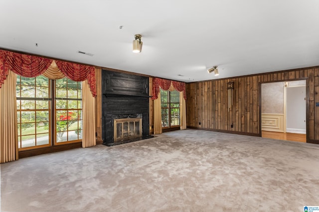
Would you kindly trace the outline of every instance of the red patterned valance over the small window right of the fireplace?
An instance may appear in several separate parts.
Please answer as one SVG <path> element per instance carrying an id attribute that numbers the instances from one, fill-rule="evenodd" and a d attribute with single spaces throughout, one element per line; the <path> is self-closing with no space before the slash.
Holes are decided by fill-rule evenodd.
<path id="1" fill-rule="evenodd" d="M 157 99 L 159 97 L 160 88 L 163 90 L 168 90 L 172 84 L 175 90 L 181 92 L 183 91 L 183 97 L 186 100 L 186 92 L 185 92 L 185 82 L 178 82 L 168 79 L 161 78 L 153 78 L 153 87 L 152 87 L 152 100 Z"/>

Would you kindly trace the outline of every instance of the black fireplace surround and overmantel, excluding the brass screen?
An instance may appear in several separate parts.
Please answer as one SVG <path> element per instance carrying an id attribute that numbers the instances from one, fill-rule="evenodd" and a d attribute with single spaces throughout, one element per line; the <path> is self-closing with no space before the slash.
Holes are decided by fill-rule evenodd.
<path id="1" fill-rule="evenodd" d="M 102 138 L 114 143 L 114 119 L 142 118 L 143 137 L 149 129 L 149 78 L 102 70 Z"/>

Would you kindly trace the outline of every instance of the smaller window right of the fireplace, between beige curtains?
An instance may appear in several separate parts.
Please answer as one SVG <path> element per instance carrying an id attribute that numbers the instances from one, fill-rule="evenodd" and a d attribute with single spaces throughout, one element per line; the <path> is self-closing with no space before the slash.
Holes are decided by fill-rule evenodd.
<path id="1" fill-rule="evenodd" d="M 179 92 L 160 89 L 162 128 L 179 126 Z"/>

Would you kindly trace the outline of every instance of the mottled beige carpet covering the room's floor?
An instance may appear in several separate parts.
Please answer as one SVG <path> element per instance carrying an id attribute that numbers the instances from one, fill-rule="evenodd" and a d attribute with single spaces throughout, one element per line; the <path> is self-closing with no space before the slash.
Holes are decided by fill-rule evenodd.
<path id="1" fill-rule="evenodd" d="M 1 212 L 301 212 L 319 145 L 199 130 L 0 165 Z"/>

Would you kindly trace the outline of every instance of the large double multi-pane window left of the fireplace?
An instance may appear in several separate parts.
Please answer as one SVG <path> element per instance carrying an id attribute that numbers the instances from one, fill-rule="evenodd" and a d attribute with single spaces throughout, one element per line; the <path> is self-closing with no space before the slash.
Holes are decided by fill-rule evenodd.
<path id="1" fill-rule="evenodd" d="M 81 95 L 81 82 L 17 76 L 19 150 L 81 140 Z"/>

